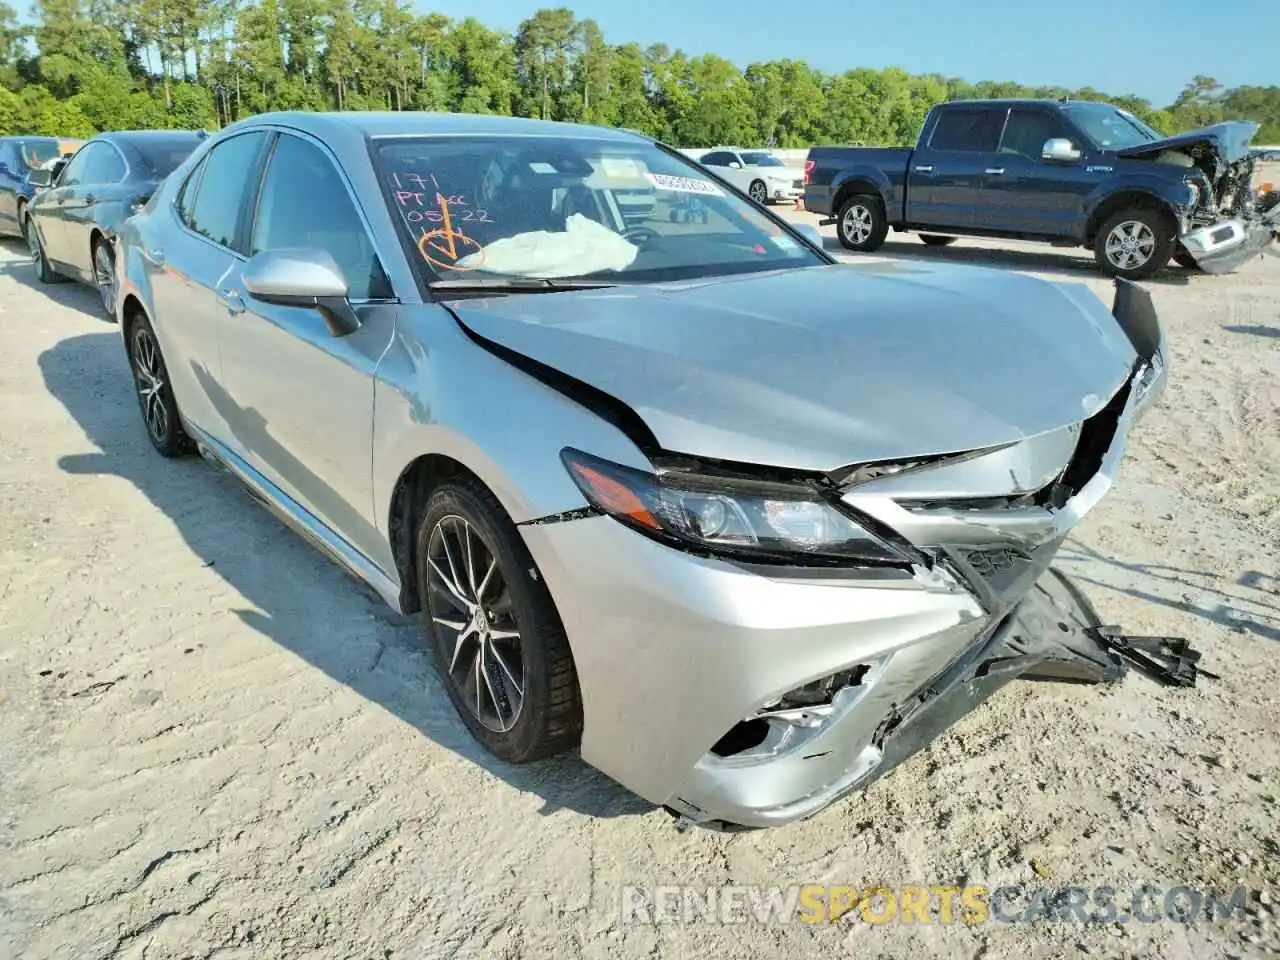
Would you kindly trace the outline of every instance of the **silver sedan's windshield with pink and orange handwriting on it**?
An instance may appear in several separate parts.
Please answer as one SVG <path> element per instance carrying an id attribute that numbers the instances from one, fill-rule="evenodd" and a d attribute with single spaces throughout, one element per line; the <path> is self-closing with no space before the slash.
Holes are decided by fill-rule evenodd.
<path id="1" fill-rule="evenodd" d="M 428 282 L 678 280 L 824 262 L 749 200 L 648 141 L 387 140 L 387 201 Z"/>

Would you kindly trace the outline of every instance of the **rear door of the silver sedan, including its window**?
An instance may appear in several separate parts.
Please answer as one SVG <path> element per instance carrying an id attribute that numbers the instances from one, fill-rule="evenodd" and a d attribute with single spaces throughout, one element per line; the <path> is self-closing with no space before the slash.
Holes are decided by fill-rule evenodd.
<path id="1" fill-rule="evenodd" d="M 187 175 L 157 229 L 143 237 L 141 251 L 156 335 L 183 416 L 228 445 L 229 420 L 238 411 L 221 379 L 218 338 L 232 316 L 218 291 L 244 260 L 244 209 L 270 136 L 251 131 L 216 143 Z"/>

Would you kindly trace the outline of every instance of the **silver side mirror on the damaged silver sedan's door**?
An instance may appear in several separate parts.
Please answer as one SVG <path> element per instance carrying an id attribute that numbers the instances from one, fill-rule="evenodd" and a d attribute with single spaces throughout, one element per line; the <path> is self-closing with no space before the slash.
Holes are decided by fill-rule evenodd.
<path id="1" fill-rule="evenodd" d="M 347 278 L 328 251 L 265 250 L 244 264 L 241 282 L 264 303 L 319 311 L 334 337 L 360 329 L 347 300 Z"/>

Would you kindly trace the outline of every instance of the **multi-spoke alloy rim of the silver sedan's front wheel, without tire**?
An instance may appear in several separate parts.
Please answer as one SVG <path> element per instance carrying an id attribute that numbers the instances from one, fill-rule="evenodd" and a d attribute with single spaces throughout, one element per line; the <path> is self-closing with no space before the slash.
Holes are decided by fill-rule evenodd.
<path id="1" fill-rule="evenodd" d="M 448 682 L 488 730 L 506 733 L 525 703 L 525 658 L 498 556 L 457 515 L 428 540 L 428 613 L 448 660 Z"/>

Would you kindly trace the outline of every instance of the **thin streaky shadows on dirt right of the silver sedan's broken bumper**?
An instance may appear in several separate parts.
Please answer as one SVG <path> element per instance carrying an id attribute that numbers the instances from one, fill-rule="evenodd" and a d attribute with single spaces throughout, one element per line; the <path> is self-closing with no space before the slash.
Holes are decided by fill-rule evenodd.
<path id="1" fill-rule="evenodd" d="M 1280 579 L 1270 573 L 1257 570 L 1245 571 L 1236 579 L 1234 586 L 1254 590 L 1274 603 L 1226 589 L 1225 584 L 1219 584 L 1220 575 L 1212 571 L 1184 570 L 1160 563 L 1126 563 L 1098 553 L 1092 547 L 1075 540 L 1062 548 L 1059 563 L 1073 579 L 1080 582 L 1116 590 L 1147 603 L 1190 613 L 1228 630 L 1253 634 L 1265 640 L 1280 643 L 1280 599 L 1276 598 L 1276 593 L 1280 591 Z M 1107 582 L 1106 573 L 1091 575 L 1091 567 L 1094 570 L 1101 567 L 1103 571 L 1111 568 L 1126 575 L 1125 579 L 1135 579 L 1138 582 L 1117 586 L 1115 582 Z M 1189 576 L 1207 579 L 1219 585 L 1203 586 L 1188 580 Z M 1207 604 L 1188 600 L 1184 598 L 1187 591 L 1207 594 L 1212 599 Z"/>

